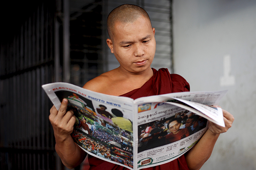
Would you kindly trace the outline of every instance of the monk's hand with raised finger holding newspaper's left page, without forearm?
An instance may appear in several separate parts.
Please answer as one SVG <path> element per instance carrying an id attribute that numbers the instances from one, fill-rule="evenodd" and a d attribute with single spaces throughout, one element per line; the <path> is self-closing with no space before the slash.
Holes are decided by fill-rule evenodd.
<path id="1" fill-rule="evenodd" d="M 63 99 L 59 111 L 53 106 L 50 110 L 49 120 L 53 125 L 56 141 L 66 140 L 73 131 L 75 116 L 73 111 L 66 112 L 68 100 Z"/>

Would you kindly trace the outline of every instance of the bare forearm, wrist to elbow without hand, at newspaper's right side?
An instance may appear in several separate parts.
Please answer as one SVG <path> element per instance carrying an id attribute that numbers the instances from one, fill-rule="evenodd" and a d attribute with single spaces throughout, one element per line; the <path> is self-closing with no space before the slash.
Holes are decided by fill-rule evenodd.
<path id="1" fill-rule="evenodd" d="M 210 158 L 219 134 L 207 130 L 198 143 L 186 154 L 186 161 L 190 170 L 199 170 Z"/>

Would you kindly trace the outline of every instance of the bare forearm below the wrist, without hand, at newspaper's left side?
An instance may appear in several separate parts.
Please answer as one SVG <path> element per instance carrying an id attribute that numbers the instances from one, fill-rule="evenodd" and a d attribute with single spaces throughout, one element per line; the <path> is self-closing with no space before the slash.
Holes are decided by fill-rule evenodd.
<path id="1" fill-rule="evenodd" d="M 65 140 L 56 139 L 55 150 L 62 163 L 70 169 L 80 165 L 86 155 L 86 152 L 76 145 L 71 136 Z"/>

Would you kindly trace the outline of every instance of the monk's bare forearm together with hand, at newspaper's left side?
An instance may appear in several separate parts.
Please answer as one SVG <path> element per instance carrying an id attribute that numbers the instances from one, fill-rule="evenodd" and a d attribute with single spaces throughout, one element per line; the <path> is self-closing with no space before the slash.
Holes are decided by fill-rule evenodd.
<path id="1" fill-rule="evenodd" d="M 67 105 L 68 100 L 63 99 L 59 111 L 53 106 L 49 120 L 53 125 L 56 140 L 55 150 L 62 163 L 71 169 L 83 162 L 86 152 L 73 141 L 70 135 L 75 124 L 75 116 L 73 111 L 66 112 Z"/>

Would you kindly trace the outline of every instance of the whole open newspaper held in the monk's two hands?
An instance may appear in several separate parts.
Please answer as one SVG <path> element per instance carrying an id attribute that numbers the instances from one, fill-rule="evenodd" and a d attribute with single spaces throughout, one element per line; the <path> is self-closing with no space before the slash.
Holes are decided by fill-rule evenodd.
<path id="1" fill-rule="evenodd" d="M 226 91 L 128 97 L 104 95 L 69 83 L 42 86 L 57 109 L 68 99 L 73 140 L 88 154 L 129 169 L 170 162 L 193 147 L 208 121 L 224 125 L 216 107 Z"/>

